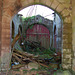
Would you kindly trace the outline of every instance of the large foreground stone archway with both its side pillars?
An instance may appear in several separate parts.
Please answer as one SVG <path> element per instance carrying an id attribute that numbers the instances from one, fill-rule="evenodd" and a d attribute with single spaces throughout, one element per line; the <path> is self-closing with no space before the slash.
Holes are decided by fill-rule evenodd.
<path id="1" fill-rule="evenodd" d="M 65 69 L 72 68 L 72 13 L 70 0 L 3 0 L 2 31 L 1 31 L 1 68 L 9 68 L 10 63 L 10 22 L 12 17 L 24 7 L 42 4 L 52 8 L 63 19 L 63 56 L 62 65 Z"/>

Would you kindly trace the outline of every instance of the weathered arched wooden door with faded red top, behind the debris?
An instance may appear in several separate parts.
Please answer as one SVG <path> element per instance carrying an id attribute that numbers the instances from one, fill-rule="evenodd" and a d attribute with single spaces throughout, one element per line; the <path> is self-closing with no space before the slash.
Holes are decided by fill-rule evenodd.
<path id="1" fill-rule="evenodd" d="M 26 40 L 40 42 L 42 47 L 49 48 L 50 32 L 45 26 L 36 24 L 28 28 Z"/>

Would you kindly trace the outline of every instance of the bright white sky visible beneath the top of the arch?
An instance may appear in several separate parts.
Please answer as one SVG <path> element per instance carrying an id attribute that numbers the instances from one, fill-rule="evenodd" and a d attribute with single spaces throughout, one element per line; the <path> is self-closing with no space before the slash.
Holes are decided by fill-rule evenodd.
<path id="1" fill-rule="evenodd" d="M 18 14 L 22 14 L 24 17 L 31 17 L 36 15 L 41 15 L 44 18 L 53 20 L 54 19 L 54 11 L 43 5 L 32 5 L 26 7 L 18 12 Z"/>

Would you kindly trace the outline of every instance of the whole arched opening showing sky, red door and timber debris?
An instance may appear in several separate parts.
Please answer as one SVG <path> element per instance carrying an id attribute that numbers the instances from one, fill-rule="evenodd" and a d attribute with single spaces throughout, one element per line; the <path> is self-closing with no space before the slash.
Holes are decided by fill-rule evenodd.
<path id="1" fill-rule="evenodd" d="M 11 29 L 11 68 L 60 69 L 62 20 L 54 10 L 43 5 L 26 7 L 14 16 Z"/>

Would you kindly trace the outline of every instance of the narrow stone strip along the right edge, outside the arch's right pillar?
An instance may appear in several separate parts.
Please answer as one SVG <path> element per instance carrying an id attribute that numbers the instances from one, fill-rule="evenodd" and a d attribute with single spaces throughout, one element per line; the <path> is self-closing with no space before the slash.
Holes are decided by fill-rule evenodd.
<path id="1" fill-rule="evenodd" d="M 73 65 L 72 70 L 75 71 L 75 0 L 72 0 L 72 45 L 73 45 Z"/>

